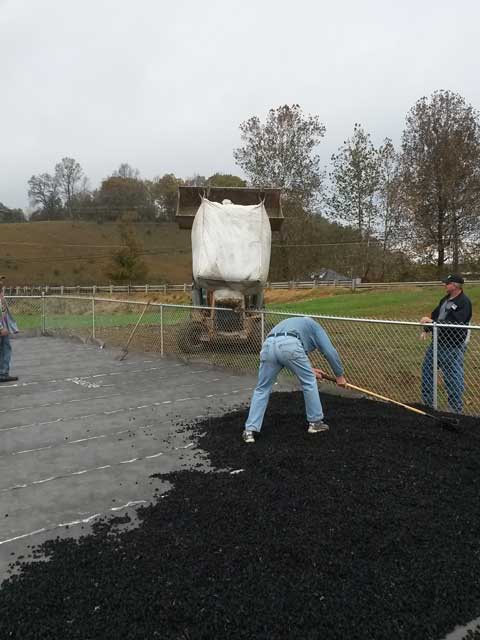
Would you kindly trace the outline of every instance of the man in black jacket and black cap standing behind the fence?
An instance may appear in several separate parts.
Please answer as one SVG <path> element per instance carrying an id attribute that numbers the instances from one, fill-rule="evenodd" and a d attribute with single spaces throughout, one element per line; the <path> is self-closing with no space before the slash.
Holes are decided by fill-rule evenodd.
<path id="1" fill-rule="evenodd" d="M 432 322 L 468 325 L 472 318 L 472 303 L 463 293 L 464 279 L 460 275 L 451 274 L 442 282 L 445 284 L 446 295 L 440 300 L 430 317 L 424 316 L 420 322 L 425 325 Z M 425 338 L 431 331 L 431 327 L 425 327 L 422 337 Z M 462 413 L 465 389 L 463 358 L 467 346 L 468 329 L 439 328 L 437 336 L 438 367 L 443 372 L 448 404 L 453 412 Z M 423 360 L 422 397 L 426 405 L 433 405 L 433 344 L 429 345 Z"/>

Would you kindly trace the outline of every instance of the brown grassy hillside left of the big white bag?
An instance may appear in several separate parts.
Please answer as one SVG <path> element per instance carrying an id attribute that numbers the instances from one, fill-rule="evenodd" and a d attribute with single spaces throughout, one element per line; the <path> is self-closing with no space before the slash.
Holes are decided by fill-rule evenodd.
<path id="1" fill-rule="evenodd" d="M 136 224 L 147 254 L 149 282 L 191 280 L 190 233 L 173 223 Z M 118 225 L 29 222 L 0 225 L 0 271 L 13 285 L 108 283 L 111 255 L 120 247 Z"/>

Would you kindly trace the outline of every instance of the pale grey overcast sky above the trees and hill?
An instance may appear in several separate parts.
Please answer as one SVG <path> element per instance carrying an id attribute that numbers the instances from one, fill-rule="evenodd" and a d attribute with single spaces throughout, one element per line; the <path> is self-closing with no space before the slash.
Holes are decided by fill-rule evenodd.
<path id="1" fill-rule="evenodd" d="M 0 202 L 80 162 L 93 188 L 239 173 L 238 125 L 299 103 L 327 164 L 360 122 L 400 140 L 436 89 L 480 108 L 478 0 L 0 0 Z"/>

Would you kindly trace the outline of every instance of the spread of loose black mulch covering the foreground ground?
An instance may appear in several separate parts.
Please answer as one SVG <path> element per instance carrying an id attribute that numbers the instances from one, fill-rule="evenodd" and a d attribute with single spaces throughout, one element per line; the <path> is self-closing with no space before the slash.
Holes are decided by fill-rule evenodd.
<path id="1" fill-rule="evenodd" d="M 324 402 L 328 433 L 298 393 L 255 445 L 244 411 L 199 424 L 217 472 L 169 475 L 134 529 L 45 544 L 2 585 L 0 638 L 440 640 L 478 617 L 478 421 Z"/>

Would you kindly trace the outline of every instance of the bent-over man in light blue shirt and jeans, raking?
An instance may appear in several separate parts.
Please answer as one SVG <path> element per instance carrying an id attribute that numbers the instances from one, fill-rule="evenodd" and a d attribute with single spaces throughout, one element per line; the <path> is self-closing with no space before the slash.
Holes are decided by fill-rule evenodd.
<path id="1" fill-rule="evenodd" d="M 317 378 L 322 378 L 320 369 L 313 369 L 307 353 L 318 349 L 328 360 L 335 373 L 337 384 L 344 387 L 343 366 L 330 338 L 313 318 L 287 318 L 270 331 L 260 352 L 258 383 L 253 392 L 243 440 L 255 442 L 255 433 L 262 428 L 268 399 L 278 373 L 283 367 L 289 369 L 300 380 L 305 399 L 308 433 L 328 431 L 323 422 L 323 409 L 318 393 Z"/>

